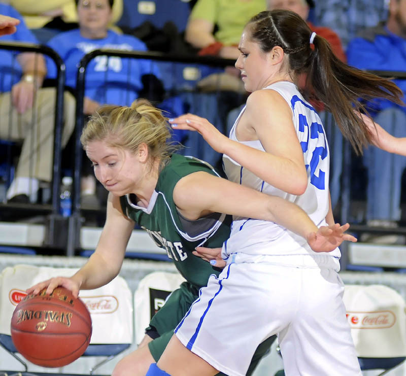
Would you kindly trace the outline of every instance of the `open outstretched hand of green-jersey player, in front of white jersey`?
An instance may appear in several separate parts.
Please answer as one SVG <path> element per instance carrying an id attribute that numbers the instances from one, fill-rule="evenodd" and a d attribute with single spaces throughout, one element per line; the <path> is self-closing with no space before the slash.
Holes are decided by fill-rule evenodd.
<path id="1" fill-rule="evenodd" d="M 331 252 L 339 247 L 344 241 L 356 242 L 357 238 L 345 233 L 350 225 L 340 225 L 334 223 L 329 226 L 321 226 L 317 232 L 311 232 L 307 236 L 307 241 L 315 252 Z"/>

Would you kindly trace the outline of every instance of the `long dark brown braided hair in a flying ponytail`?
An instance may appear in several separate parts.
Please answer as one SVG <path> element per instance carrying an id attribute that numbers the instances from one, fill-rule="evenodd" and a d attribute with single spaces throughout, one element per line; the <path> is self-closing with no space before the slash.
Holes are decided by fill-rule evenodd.
<path id="1" fill-rule="evenodd" d="M 363 103 L 377 97 L 403 105 L 402 91 L 393 82 L 343 63 L 329 43 L 320 36 L 312 36 L 306 21 L 292 11 L 260 12 L 247 23 L 246 30 L 263 52 L 276 46 L 282 48 L 296 84 L 300 75 L 306 75 L 303 95 L 323 102 L 359 154 L 371 142 L 371 135 L 354 110 L 367 114 Z"/>

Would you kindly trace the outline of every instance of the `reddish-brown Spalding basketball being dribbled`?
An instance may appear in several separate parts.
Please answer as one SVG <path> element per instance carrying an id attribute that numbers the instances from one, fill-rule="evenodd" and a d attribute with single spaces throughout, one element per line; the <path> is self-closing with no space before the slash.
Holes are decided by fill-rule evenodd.
<path id="1" fill-rule="evenodd" d="M 72 292 L 57 287 L 27 295 L 11 318 L 11 338 L 17 351 L 31 363 L 61 367 L 86 350 L 92 322 L 86 305 Z"/>

